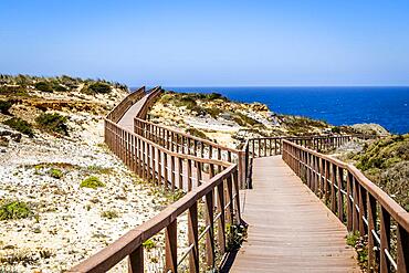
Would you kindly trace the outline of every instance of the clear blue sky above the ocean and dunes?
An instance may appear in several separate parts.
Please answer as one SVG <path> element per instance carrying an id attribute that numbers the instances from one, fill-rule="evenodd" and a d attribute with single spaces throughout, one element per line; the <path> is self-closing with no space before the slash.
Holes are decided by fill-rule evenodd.
<path id="1" fill-rule="evenodd" d="M 1 0 L 0 73 L 137 85 L 409 85 L 409 1 Z"/>

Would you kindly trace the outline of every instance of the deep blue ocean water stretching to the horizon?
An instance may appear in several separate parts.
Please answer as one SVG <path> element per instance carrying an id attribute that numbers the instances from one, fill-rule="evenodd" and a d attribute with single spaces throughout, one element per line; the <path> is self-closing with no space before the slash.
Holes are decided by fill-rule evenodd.
<path id="1" fill-rule="evenodd" d="M 280 114 L 307 116 L 333 125 L 377 123 L 409 133 L 409 87 L 165 87 L 220 93 L 231 99 L 266 104 Z"/>

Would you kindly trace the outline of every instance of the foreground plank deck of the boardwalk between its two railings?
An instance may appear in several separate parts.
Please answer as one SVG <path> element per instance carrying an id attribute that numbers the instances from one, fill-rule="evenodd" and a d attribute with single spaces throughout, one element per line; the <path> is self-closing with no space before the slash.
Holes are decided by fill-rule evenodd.
<path id="1" fill-rule="evenodd" d="M 280 156 L 254 159 L 248 240 L 231 272 L 360 272 L 347 230 Z"/>

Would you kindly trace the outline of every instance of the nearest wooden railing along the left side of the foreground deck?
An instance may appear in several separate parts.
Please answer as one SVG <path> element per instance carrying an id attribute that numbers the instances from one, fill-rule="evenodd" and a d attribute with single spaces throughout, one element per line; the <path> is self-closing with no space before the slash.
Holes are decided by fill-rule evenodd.
<path id="1" fill-rule="evenodd" d="M 237 165 L 231 165 L 222 172 L 212 177 L 207 183 L 192 189 L 186 196 L 166 208 L 156 217 L 128 231 L 114 243 L 92 255 L 69 272 L 106 272 L 123 259 L 128 258 L 128 271 L 144 272 L 144 245 L 149 238 L 165 230 L 164 272 L 177 272 L 178 265 L 189 258 L 189 272 L 199 272 L 199 241 L 206 240 L 206 262 L 210 267 L 216 266 L 216 252 L 223 255 L 227 243 L 226 219 L 240 223 L 239 188 Z M 224 191 L 233 192 L 224 195 Z M 217 196 L 217 202 L 213 198 Z M 206 200 L 204 203 L 202 200 Z M 206 227 L 199 234 L 198 206 L 204 208 Z M 188 248 L 187 252 L 178 255 L 178 217 L 188 213 Z M 214 237 L 216 229 L 218 237 Z M 216 243 L 217 241 L 217 243 Z M 217 249 L 218 248 L 218 249 Z M 178 256 L 181 256 L 178 260 Z"/>

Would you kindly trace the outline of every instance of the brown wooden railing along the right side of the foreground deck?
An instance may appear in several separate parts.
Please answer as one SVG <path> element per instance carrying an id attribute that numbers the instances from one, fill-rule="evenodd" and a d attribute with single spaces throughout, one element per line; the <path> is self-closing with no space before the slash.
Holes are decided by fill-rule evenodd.
<path id="1" fill-rule="evenodd" d="M 349 231 L 368 237 L 368 269 L 409 272 L 409 213 L 358 169 L 283 140 L 283 159 Z"/>

